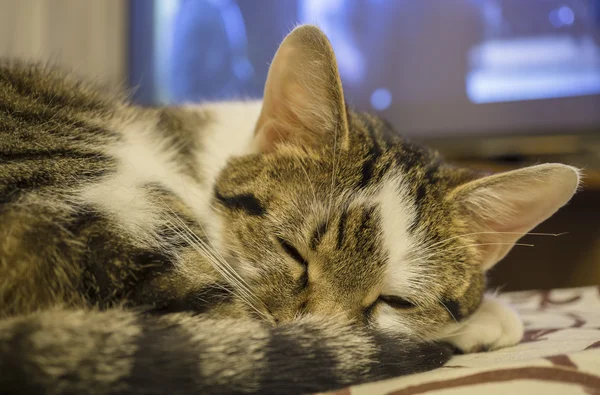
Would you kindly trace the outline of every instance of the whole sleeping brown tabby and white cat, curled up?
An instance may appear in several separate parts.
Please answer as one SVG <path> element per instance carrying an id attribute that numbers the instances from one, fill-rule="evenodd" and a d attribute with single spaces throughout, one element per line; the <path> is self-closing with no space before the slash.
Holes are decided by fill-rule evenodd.
<path id="1" fill-rule="evenodd" d="M 316 27 L 262 102 L 0 66 L 0 392 L 308 393 L 519 341 L 485 273 L 579 175 L 452 167 L 344 102 Z"/>

